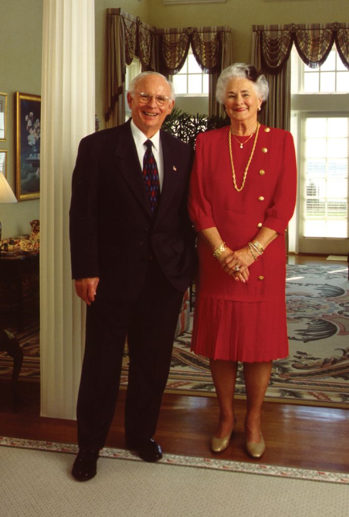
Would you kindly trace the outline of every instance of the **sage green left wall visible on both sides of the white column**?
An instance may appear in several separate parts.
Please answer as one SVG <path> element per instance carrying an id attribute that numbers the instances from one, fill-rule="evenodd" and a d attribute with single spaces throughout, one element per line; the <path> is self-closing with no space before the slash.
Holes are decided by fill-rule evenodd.
<path id="1" fill-rule="evenodd" d="M 143 0 L 96 0 L 96 113 L 104 127 L 104 50 L 106 9 L 121 7 L 148 22 L 149 2 Z M 1 0 L 0 92 L 7 94 L 7 180 L 15 192 L 14 92 L 41 94 L 43 0 Z M 44 173 L 44 171 L 41 171 Z M 40 200 L 0 205 L 2 237 L 30 233 L 29 221 L 40 219 Z"/>

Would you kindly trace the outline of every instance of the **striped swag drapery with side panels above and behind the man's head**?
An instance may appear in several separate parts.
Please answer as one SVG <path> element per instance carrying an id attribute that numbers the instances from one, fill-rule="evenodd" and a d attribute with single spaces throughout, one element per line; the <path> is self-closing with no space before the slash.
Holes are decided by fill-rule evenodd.
<path id="1" fill-rule="evenodd" d="M 138 56 L 142 70 L 154 70 L 166 77 L 183 66 L 189 47 L 200 68 L 209 73 L 209 114 L 219 114 L 215 100 L 220 71 L 231 64 L 230 27 L 186 27 L 158 29 L 122 9 L 107 9 L 106 20 L 106 111 L 107 127 L 125 118 L 125 65 Z"/>

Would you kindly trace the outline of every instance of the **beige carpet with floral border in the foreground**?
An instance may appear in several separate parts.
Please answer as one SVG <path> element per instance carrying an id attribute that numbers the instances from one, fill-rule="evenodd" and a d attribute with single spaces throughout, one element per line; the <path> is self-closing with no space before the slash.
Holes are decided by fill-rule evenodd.
<path id="1" fill-rule="evenodd" d="M 4 444 L 4 438 L 0 438 Z M 10 443 L 7 439 L 7 445 Z M 22 444 L 20 442 L 23 442 Z M 53 452 L 54 444 L 14 440 L 0 446 L 1 517 L 347 517 L 349 476 L 332 482 L 293 479 L 297 469 L 257 463 L 256 474 L 233 472 L 229 464 L 205 468 L 205 460 L 168 455 L 161 464 L 120 459 L 105 450 L 96 478 L 79 483 L 71 474 L 72 454 Z M 30 449 L 19 448 L 29 445 Z M 55 444 L 62 451 L 74 446 Z M 58 447 L 59 448 L 59 447 Z M 51 450 L 50 450 L 51 449 Z M 56 450 L 57 447 L 56 447 Z M 126 457 L 127 454 L 125 453 Z M 114 457 L 114 459 L 112 459 Z M 134 459 L 134 458 L 130 458 Z M 201 467 L 196 466 L 200 460 Z M 219 460 L 215 460 L 219 463 Z M 193 464 L 194 466 L 191 466 Z M 239 468 L 236 464 L 236 468 Z M 283 473 L 284 471 L 284 473 Z M 306 471 L 299 471 L 304 477 Z M 308 471 L 311 472 L 311 471 Z M 261 475 L 262 474 L 262 475 Z M 313 473 L 318 479 L 326 473 Z"/>

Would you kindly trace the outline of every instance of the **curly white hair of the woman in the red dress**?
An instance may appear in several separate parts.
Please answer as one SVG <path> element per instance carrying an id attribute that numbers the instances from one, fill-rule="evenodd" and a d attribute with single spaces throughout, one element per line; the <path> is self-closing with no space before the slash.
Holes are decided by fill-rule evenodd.
<path id="1" fill-rule="evenodd" d="M 266 103 L 269 93 L 269 86 L 264 75 L 259 72 L 253 65 L 245 63 L 234 63 L 221 71 L 216 86 L 216 99 L 220 104 L 224 104 L 226 100 L 227 83 L 234 77 L 249 79 L 255 85 L 259 98 L 262 99 L 262 105 Z"/>

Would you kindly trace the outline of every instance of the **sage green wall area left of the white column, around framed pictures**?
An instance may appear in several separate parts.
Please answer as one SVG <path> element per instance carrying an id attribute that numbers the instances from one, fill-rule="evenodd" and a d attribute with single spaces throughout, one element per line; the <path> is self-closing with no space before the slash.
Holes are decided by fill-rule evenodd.
<path id="1" fill-rule="evenodd" d="M 7 94 L 7 180 L 15 192 L 14 92 L 41 93 L 42 0 L 1 0 L 0 92 Z M 3 238 L 30 233 L 39 200 L 0 205 Z"/>

